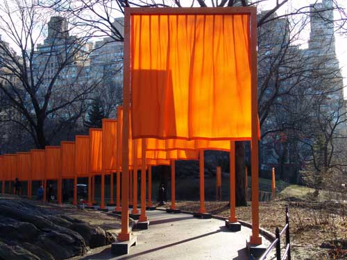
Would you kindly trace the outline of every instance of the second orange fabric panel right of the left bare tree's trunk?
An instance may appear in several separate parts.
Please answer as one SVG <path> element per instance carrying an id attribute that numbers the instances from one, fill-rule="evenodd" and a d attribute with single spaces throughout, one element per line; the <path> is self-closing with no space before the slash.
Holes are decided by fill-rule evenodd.
<path id="1" fill-rule="evenodd" d="M 62 157 L 62 178 L 75 176 L 75 142 L 62 141 L 60 144 Z"/>

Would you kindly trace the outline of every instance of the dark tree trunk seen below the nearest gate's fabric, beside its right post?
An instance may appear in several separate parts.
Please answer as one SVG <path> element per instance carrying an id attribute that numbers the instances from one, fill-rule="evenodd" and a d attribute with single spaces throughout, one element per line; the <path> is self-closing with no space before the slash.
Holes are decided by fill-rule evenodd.
<path id="1" fill-rule="evenodd" d="M 236 163 L 236 205 L 247 206 L 246 189 L 246 171 L 244 163 L 244 142 L 235 142 L 235 163 Z"/>

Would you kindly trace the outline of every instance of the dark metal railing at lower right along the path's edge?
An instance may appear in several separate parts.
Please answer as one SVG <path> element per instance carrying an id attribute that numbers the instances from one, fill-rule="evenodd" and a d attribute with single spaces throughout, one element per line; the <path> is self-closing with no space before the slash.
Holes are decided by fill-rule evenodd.
<path id="1" fill-rule="evenodd" d="M 281 239 L 282 234 L 285 233 L 285 252 L 281 255 Z M 289 212 L 288 207 L 285 208 L 285 227 L 282 231 L 276 227 L 276 239 L 269 245 L 269 248 L 266 249 L 264 254 L 260 257 L 259 260 L 265 260 L 268 254 L 276 247 L 276 260 L 291 260 L 290 254 L 290 237 L 289 237 Z"/>

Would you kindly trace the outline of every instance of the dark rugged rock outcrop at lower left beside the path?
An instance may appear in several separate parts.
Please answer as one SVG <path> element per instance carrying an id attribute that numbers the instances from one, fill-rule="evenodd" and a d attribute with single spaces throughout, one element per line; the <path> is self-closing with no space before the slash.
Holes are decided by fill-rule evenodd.
<path id="1" fill-rule="evenodd" d="M 115 241 L 101 227 L 39 207 L 0 198 L 0 260 L 60 260 Z"/>

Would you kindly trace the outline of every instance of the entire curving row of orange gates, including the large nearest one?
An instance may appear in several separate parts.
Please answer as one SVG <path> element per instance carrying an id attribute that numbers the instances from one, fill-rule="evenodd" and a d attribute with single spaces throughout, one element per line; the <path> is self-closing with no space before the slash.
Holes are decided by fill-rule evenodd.
<path id="1" fill-rule="evenodd" d="M 77 177 L 88 177 L 91 184 L 92 176 L 101 174 L 102 208 L 105 174 L 116 171 L 119 188 L 121 173 L 118 240 L 130 241 L 129 171 L 137 180 L 137 170 L 141 169 L 139 221 L 147 221 L 146 168 L 150 171 L 151 166 L 198 159 L 203 214 L 203 151 L 226 150 L 230 152 L 229 221 L 235 223 L 235 141 L 250 141 L 249 241 L 260 245 L 256 8 L 125 8 L 123 87 L 123 114 L 119 107 L 117 122 L 105 119 L 103 129 L 90 129 L 89 136 L 76 136 L 75 142 L 5 155 L 1 158 L 2 179 L 12 180 L 18 175 L 29 183 L 58 180 L 60 193 L 63 178 L 74 177 L 76 183 Z M 171 167 L 173 208 L 174 170 Z M 133 198 L 137 198 L 137 182 L 133 185 Z M 91 204 L 90 192 L 88 197 Z M 135 210 L 136 203 L 134 200 Z"/>

